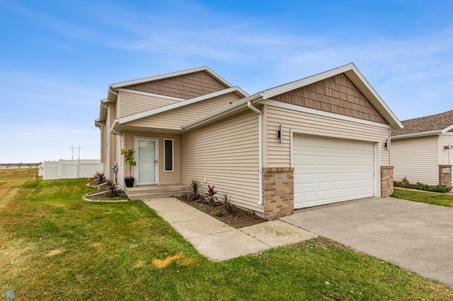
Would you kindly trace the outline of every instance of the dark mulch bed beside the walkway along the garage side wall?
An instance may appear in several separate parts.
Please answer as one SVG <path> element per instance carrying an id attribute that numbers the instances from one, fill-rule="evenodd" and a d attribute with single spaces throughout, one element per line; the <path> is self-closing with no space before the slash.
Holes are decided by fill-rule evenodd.
<path id="1" fill-rule="evenodd" d="M 243 228 L 251 225 L 257 225 L 264 223 L 266 220 L 257 216 L 253 211 L 246 211 L 236 207 L 236 212 L 225 213 L 223 216 L 216 216 L 215 211 L 217 208 L 222 206 L 222 203 L 216 202 L 213 206 L 210 206 L 204 199 L 198 198 L 190 201 L 187 196 L 176 196 L 176 199 L 188 203 L 190 206 L 197 208 L 198 210 L 209 214 L 217 220 L 221 220 L 223 223 L 231 225 L 234 228 Z"/>

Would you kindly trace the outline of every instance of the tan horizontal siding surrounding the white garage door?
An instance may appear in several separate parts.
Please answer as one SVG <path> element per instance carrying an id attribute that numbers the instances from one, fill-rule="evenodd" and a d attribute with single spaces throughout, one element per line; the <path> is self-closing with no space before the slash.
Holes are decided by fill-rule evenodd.
<path id="1" fill-rule="evenodd" d="M 297 112 L 271 105 L 265 109 L 267 119 L 267 134 L 265 137 L 267 147 L 267 163 L 265 167 L 289 167 L 290 162 L 290 130 L 317 133 L 322 136 L 348 136 L 357 140 L 379 141 L 381 165 L 389 165 L 389 151 L 385 151 L 385 139 L 389 139 L 389 129 L 361 124 L 352 121 L 324 117 L 316 114 Z M 283 126 L 283 141 L 276 137 L 280 124 Z"/>

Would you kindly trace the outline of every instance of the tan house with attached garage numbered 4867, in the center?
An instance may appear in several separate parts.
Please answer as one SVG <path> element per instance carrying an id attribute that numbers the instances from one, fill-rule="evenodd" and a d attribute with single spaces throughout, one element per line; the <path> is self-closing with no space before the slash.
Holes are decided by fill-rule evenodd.
<path id="1" fill-rule="evenodd" d="M 95 123 L 108 177 L 137 151 L 127 194 L 197 179 L 266 219 L 389 196 L 402 127 L 354 64 L 253 95 L 207 67 L 113 83 Z"/>

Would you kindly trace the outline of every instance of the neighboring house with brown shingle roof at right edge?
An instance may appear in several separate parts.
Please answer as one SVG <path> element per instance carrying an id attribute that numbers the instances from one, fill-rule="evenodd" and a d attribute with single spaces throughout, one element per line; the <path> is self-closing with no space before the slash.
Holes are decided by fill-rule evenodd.
<path id="1" fill-rule="evenodd" d="M 453 110 L 401 123 L 391 132 L 394 178 L 452 187 Z"/>

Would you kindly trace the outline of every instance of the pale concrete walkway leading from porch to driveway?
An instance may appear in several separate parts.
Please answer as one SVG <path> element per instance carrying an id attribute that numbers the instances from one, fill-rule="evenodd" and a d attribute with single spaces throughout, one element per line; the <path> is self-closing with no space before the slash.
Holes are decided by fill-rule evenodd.
<path id="1" fill-rule="evenodd" d="M 144 201 L 212 261 L 252 254 L 316 237 L 282 220 L 235 229 L 173 197 Z"/>

